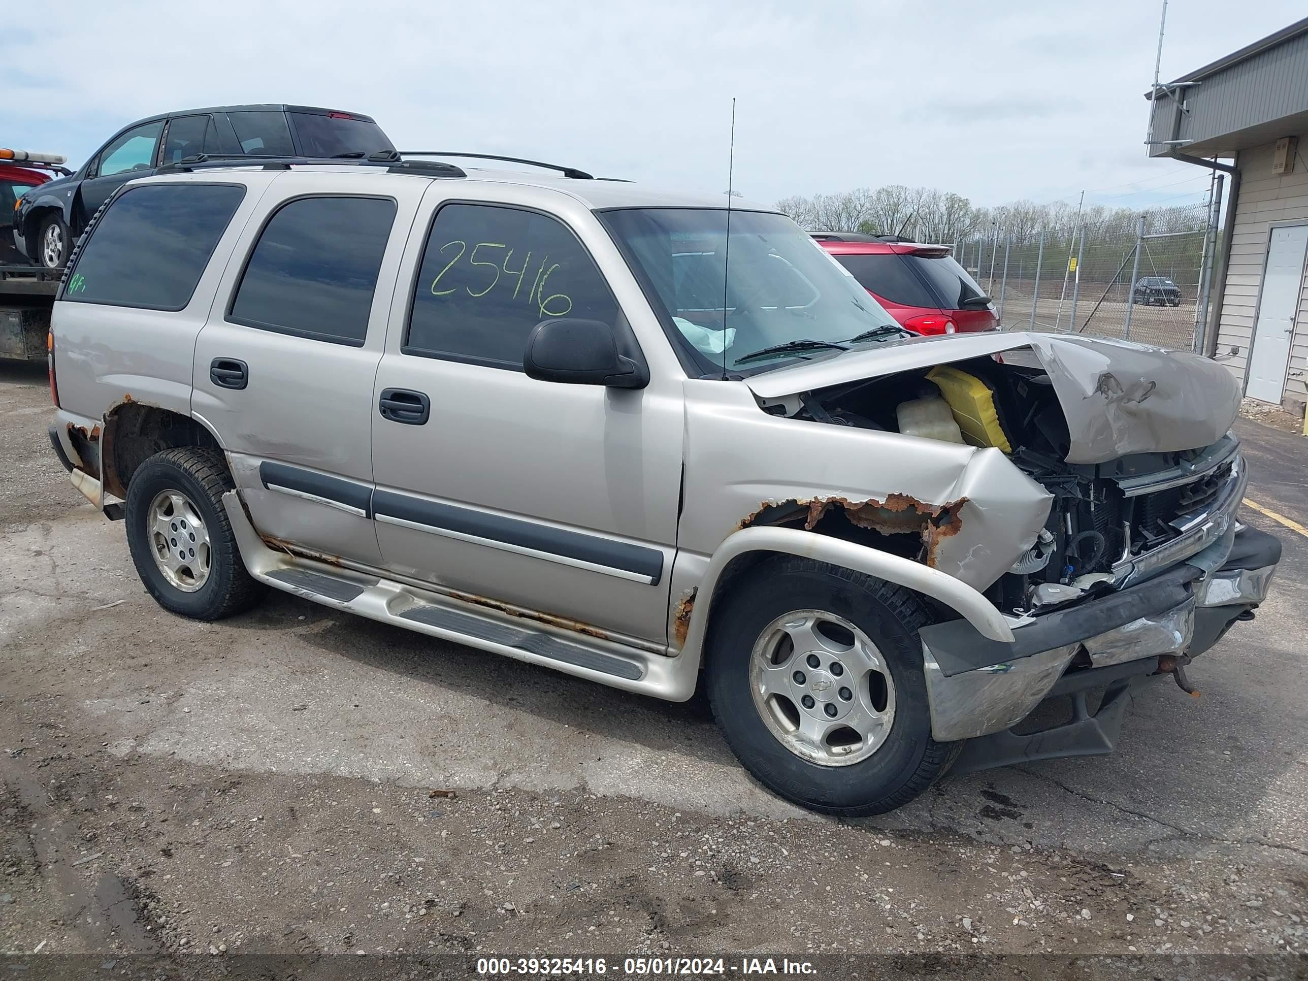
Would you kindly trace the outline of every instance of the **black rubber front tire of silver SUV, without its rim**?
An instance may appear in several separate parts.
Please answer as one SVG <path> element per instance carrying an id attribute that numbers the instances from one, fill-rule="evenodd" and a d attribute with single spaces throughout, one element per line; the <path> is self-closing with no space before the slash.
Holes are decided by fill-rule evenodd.
<path id="1" fill-rule="evenodd" d="M 844 570 L 769 570 L 751 576 L 714 625 L 706 685 L 735 755 L 781 797 L 831 814 L 874 814 L 918 777 L 931 740 L 922 649 L 913 624 L 870 589 L 874 579 Z M 882 747 L 848 766 L 797 756 L 769 731 L 749 689 L 749 659 L 763 628 L 794 610 L 824 610 L 855 624 L 886 658 L 895 684 L 895 721 Z M 913 791 L 909 797 L 918 791 Z M 908 798 L 905 798 L 908 799 Z"/>

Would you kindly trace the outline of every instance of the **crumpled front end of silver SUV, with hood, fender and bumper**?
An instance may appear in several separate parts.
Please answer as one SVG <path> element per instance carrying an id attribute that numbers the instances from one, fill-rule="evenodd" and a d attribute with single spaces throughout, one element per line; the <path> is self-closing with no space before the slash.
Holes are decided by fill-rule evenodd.
<path id="1" fill-rule="evenodd" d="M 974 740 L 963 769 L 1108 752 L 1130 688 L 1171 676 L 1189 689 L 1185 664 L 1252 616 L 1279 560 L 1274 538 L 1236 521 L 1239 392 L 1205 358 L 1005 334 L 747 383 L 757 408 L 823 447 L 814 483 L 841 489 L 765 500 L 740 527 L 913 559 L 981 590 L 1012 628 L 991 640 L 938 607 L 921 632 L 934 735 Z M 870 464 L 862 484 L 854 453 Z M 1096 687 L 1108 693 L 1091 712 Z M 1015 734 L 1050 695 L 1073 697 L 1071 722 Z"/>

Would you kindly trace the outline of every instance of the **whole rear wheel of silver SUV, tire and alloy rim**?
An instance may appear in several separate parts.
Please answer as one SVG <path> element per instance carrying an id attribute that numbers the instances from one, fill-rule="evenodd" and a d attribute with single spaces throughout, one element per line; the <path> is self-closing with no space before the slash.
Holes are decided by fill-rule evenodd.
<path id="1" fill-rule="evenodd" d="M 233 487 L 222 454 L 195 446 L 157 453 L 132 473 L 127 544 L 137 576 L 165 610 L 220 620 L 263 598 L 222 506 Z"/>

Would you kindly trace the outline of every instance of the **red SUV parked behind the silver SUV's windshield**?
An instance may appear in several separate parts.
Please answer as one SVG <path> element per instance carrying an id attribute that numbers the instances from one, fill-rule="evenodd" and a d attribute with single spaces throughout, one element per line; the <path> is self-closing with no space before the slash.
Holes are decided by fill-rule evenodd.
<path id="1" fill-rule="evenodd" d="M 914 334 L 969 334 L 999 326 L 990 297 L 954 260 L 950 246 L 858 232 L 815 232 L 812 237 Z"/>

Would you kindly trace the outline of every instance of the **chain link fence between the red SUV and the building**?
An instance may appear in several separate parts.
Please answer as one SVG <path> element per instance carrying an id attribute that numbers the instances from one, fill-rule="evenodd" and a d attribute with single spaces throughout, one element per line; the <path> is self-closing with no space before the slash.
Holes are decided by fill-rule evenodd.
<path id="1" fill-rule="evenodd" d="M 1216 242 L 1206 204 L 1036 232 L 1003 229 L 955 243 L 1006 330 L 1198 348 Z M 1201 331 L 1199 331 L 1201 332 Z"/>

